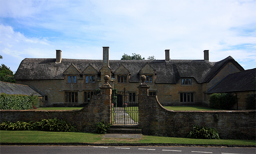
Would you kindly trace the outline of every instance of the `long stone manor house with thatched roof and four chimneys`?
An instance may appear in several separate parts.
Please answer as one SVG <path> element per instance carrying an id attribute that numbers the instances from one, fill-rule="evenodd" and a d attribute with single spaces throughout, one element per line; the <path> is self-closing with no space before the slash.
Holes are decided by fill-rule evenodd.
<path id="1" fill-rule="evenodd" d="M 109 47 L 103 47 L 103 60 L 66 59 L 61 53 L 56 50 L 56 58 L 25 58 L 14 77 L 17 84 L 42 94 L 44 107 L 90 102 L 105 75 L 118 97 L 126 88 L 129 101 L 134 101 L 145 75 L 149 95 L 156 95 L 163 106 L 208 105 L 208 90 L 228 74 L 244 71 L 231 56 L 210 62 L 208 50 L 204 60 L 172 60 L 170 50 L 165 50 L 165 60 L 109 60 Z"/>

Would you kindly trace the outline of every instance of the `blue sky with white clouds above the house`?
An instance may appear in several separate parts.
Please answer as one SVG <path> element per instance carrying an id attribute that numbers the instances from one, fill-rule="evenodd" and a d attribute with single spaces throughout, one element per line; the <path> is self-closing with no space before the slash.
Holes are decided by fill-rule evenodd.
<path id="1" fill-rule="evenodd" d="M 255 0 L 0 0 L 1 64 L 16 71 L 24 58 L 102 59 L 124 53 L 148 58 L 232 56 L 256 67 Z"/>

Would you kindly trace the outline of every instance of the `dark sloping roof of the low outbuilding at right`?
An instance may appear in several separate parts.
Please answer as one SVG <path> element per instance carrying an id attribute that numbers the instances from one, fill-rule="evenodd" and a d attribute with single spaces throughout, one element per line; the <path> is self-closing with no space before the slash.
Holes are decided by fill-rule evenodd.
<path id="1" fill-rule="evenodd" d="M 229 74 L 208 90 L 208 94 L 221 92 L 242 92 L 255 90 L 256 68 Z"/>

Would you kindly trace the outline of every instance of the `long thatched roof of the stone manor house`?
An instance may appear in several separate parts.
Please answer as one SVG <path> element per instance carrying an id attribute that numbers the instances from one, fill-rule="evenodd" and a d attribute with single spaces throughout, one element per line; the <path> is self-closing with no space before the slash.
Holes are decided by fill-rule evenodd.
<path id="1" fill-rule="evenodd" d="M 15 80 L 50 80 L 64 79 L 64 71 L 74 64 L 82 72 L 90 64 L 99 72 L 103 66 L 102 60 L 65 59 L 56 64 L 55 58 L 25 58 L 14 76 Z M 156 83 L 176 84 L 182 77 L 192 77 L 198 83 L 209 82 L 210 79 L 226 63 L 232 61 L 244 70 L 232 57 L 227 57 L 219 62 L 205 60 L 109 60 L 112 72 L 124 65 L 130 72 L 129 82 L 140 82 L 140 70 L 148 63 L 156 70 Z"/>

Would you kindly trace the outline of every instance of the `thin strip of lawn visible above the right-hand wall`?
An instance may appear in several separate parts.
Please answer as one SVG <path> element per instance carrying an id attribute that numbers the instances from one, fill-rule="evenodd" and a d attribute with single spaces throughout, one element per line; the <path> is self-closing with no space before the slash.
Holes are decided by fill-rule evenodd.
<path id="1" fill-rule="evenodd" d="M 209 110 L 223 110 L 223 109 L 213 109 L 210 107 L 201 106 L 164 106 L 164 108 L 174 111 L 209 111 Z"/>

